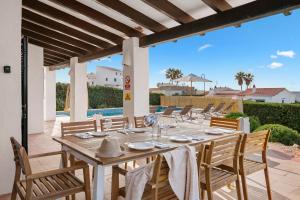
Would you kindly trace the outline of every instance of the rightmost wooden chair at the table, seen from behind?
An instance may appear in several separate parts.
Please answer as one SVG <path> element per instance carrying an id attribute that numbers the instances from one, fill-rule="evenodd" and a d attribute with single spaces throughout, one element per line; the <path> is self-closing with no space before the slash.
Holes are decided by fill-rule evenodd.
<path id="1" fill-rule="evenodd" d="M 267 146 L 270 135 L 271 131 L 266 130 L 254 132 L 251 134 L 244 134 L 243 136 L 240 155 L 240 175 L 242 179 L 243 194 L 245 200 L 249 199 L 246 176 L 260 170 L 264 170 L 268 199 L 272 199 L 267 161 Z M 262 161 L 259 162 L 246 157 L 253 153 L 260 153 L 262 156 Z"/>

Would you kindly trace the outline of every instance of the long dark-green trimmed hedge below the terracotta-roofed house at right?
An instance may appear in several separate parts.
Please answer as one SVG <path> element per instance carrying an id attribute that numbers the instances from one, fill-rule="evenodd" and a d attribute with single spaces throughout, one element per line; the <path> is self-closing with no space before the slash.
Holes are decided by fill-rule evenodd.
<path id="1" fill-rule="evenodd" d="M 262 124 L 281 124 L 300 132 L 300 105 L 244 102 L 244 113 L 257 116 Z"/>

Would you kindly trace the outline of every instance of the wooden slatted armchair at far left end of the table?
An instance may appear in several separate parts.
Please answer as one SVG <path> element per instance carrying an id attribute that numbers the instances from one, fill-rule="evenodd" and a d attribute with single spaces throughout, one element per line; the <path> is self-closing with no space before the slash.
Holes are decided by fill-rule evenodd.
<path id="1" fill-rule="evenodd" d="M 91 199 L 89 167 L 81 163 L 71 167 L 66 167 L 66 154 L 63 151 L 39 154 L 29 157 L 24 149 L 13 137 L 10 138 L 14 151 L 14 161 L 16 174 L 11 199 L 18 196 L 22 200 L 44 200 L 58 199 L 79 192 L 85 192 L 87 200 Z M 29 159 L 61 154 L 64 168 L 45 172 L 32 173 Z M 84 182 L 78 179 L 72 171 L 83 170 Z M 21 180 L 21 173 L 25 179 Z"/>

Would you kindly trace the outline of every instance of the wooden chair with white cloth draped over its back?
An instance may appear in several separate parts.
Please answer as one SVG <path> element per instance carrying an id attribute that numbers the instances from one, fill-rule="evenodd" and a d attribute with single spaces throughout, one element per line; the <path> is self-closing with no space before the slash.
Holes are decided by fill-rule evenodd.
<path id="1" fill-rule="evenodd" d="M 118 196 L 125 197 L 125 187 L 119 188 L 119 176 L 125 176 L 126 170 L 113 166 L 111 199 L 117 200 Z M 153 169 L 151 180 L 146 184 L 142 200 L 178 199 L 174 194 L 168 179 L 169 167 L 162 155 L 158 155 Z"/>

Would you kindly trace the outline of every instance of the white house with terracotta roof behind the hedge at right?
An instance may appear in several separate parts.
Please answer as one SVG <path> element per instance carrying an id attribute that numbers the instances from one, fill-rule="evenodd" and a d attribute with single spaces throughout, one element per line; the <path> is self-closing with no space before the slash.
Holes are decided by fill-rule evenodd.
<path id="1" fill-rule="evenodd" d="M 286 88 L 253 88 L 242 93 L 244 100 L 271 103 L 295 103 L 296 96 Z"/>

